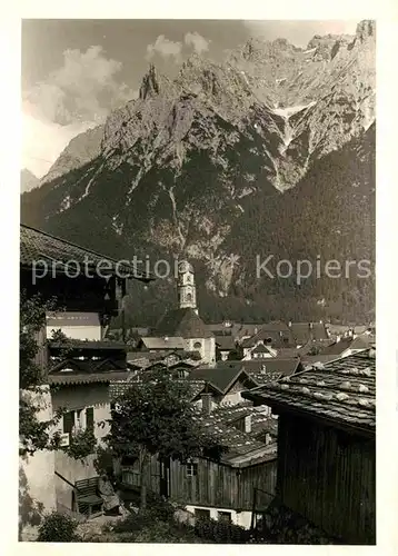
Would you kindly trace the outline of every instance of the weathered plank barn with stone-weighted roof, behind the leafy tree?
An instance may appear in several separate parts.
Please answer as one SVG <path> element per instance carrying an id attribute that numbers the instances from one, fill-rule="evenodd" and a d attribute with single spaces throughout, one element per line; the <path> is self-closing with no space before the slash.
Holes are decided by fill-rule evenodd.
<path id="1" fill-rule="evenodd" d="M 183 505 L 197 517 L 231 520 L 249 528 L 255 490 L 261 489 L 256 494 L 258 512 L 263 512 L 275 495 L 277 424 L 267 415 L 267 408 L 265 411 L 243 404 L 202 414 L 228 451 L 220 461 L 160 461 L 155 456 L 147 475 L 148 489 Z M 138 492 L 137 461 L 125 459 L 120 473 L 122 488 Z"/>

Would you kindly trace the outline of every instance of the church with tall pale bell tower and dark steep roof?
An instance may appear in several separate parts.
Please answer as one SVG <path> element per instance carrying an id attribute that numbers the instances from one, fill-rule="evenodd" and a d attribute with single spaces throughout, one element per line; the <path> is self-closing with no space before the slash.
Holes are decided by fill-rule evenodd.
<path id="1" fill-rule="evenodd" d="M 199 317 L 193 267 L 180 262 L 177 277 L 178 308 L 167 311 L 153 336 L 180 337 L 186 351 L 198 351 L 203 364 L 216 364 L 216 338 Z"/>

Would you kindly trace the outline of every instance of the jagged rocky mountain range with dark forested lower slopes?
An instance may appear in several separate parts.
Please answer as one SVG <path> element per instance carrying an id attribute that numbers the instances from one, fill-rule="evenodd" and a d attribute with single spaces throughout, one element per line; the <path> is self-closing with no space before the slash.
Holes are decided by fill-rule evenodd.
<path id="1" fill-rule="evenodd" d="M 355 265 L 375 258 L 375 49 L 362 21 L 305 49 L 252 39 L 222 63 L 195 54 L 172 80 L 150 66 L 139 98 L 21 196 L 22 222 L 115 257 L 188 258 L 209 320 L 372 320 L 374 272 Z M 356 264 L 298 284 L 259 275 L 269 256 L 273 270 Z M 127 309 L 151 325 L 175 302 L 169 277 L 131 285 Z"/>

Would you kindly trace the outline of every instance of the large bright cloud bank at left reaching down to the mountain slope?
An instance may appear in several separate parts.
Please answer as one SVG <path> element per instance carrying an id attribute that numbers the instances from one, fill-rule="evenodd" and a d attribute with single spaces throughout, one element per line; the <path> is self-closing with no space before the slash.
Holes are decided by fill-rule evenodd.
<path id="1" fill-rule="evenodd" d="M 73 137 L 135 98 L 120 70 L 101 47 L 66 50 L 63 64 L 22 95 L 22 166 L 42 177 Z"/>

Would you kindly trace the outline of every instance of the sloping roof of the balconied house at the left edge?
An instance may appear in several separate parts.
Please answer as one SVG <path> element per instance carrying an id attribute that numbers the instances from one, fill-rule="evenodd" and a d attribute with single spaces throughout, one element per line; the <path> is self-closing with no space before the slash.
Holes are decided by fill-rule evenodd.
<path id="1" fill-rule="evenodd" d="M 81 265 L 81 274 L 84 272 L 86 265 L 91 270 L 92 268 L 98 268 L 98 265 L 100 265 L 99 268 L 102 276 L 107 274 L 115 276 L 117 274 L 120 278 L 136 278 L 145 282 L 153 280 L 151 275 L 140 271 L 132 264 L 118 264 L 117 260 L 91 249 L 86 249 L 50 234 L 21 225 L 20 266 L 22 268 L 31 268 L 33 261 L 36 261 L 37 266 L 39 266 L 40 261 L 44 261 L 44 264 L 50 262 L 51 265 L 57 262 L 54 268 L 59 274 L 63 274 L 67 264 L 73 261 L 73 264 Z"/>

